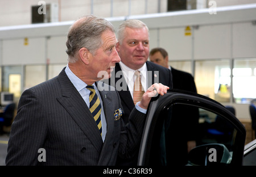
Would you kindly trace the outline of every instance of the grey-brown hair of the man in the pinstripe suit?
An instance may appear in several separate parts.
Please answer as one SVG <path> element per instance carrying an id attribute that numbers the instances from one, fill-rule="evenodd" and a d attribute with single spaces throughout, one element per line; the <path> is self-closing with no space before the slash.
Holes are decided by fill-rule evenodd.
<path id="1" fill-rule="evenodd" d="M 114 32 L 113 25 L 104 18 L 95 15 L 85 15 L 76 20 L 69 28 L 67 45 L 68 62 L 77 61 L 76 53 L 85 47 L 93 55 L 103 44 L 101 35 L 104 31 Z"/>

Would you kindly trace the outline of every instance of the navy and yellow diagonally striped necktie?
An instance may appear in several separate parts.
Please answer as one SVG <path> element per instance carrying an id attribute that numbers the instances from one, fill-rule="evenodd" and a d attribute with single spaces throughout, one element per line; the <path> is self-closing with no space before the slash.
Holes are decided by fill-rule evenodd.
<path id="1" fill-rule="evenodd" d="M 89 101 L 90 101 L 90 112 L 92 112 L 92 116 L 94 120 L 96 121 L 96 124 L 98 126 L 98 129 L 100 130 L 100 133 L 102 133 L 101 128 L 101 102 L 98 98 L 98 95 L 96 94 L 96 91 L 92 85 L 86 86 L 88 90 L 90 90 L 89 95 Z"/>

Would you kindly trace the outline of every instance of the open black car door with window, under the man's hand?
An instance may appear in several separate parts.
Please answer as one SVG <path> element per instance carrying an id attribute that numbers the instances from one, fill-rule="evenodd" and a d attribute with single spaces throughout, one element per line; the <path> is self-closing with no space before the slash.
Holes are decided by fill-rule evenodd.
<path id="1" fill-rule="evenodd" d="M 138 165 L 242 165 L 245 134 L 220 103 L 172 90 L 148 107 Z"/>

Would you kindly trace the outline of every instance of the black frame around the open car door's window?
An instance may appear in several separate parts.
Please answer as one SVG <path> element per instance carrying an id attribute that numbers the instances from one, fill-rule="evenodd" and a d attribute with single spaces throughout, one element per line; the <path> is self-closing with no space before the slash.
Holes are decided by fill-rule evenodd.
<path id="1" fill-rule="evenodd" d="M 188 104 L 197 106 L 198 108 L 203 108 L 207 111 L 216 113 L 216 115 L 220 115 L 222 117 L 228 117 L 226 119 L 229 121 L 234 128 L 236 128 L 240 133 L 238 133 L 237 141 L 234 142 L 236 145 L 235 153 L 232 157 L 232 165 L 242 165 L 243 158 L 243 148 L 245 144 L 245 127 L 242 123 L 237 119 L 236 116 L 233 115 L 228 109 L 226 109 L 222 104 L 206 97 L 203 95 L 195 94 L 188 91 L 180 91 L 180 90 L 172 90 L 168 91 L 166 95 L 158 96 L 151 100 L 150 105 L 147 109 L 147 118 L 144 126 L 141 146 L 139 150 L 139 158 L 138 165 L 147 165 L 149 161 L 148 154 L 150 154 L 150 144 L 152 141 L 152 134 L 154 134 L 154 130 L 151 128 L 155 126 L 157 121 L 157 116 L 161 111 L 168 105 L 172 105 L 175 103 Z M 242 144 L 242 145 L 241 145 Z M 147 155 L 146 155 L 147 154 Z"/>

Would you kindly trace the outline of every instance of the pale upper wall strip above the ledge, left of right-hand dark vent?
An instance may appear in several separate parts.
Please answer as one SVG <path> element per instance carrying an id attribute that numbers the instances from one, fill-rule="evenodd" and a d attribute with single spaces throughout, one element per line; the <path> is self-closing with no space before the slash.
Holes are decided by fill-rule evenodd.
<path id="1" fill-rule="evenodd" d="M 0 26 L 31 24 L 31 6 L 40 0 L 1 0 Z M 129 1 L 130 6 L 129 6 Z M 111 0 L 44 0 L 57 3 L 59 22 L 76 20 L 84 14 L 94 14 L 108 18 L 110 16 L 128 16 L 158 12 L 158 0 L 115 0 L 111 12 Z M 147 4 L 147 6 L 146 6 Z M 160 12 L 167 11 L 167 0 L 160 0 Z"/>

